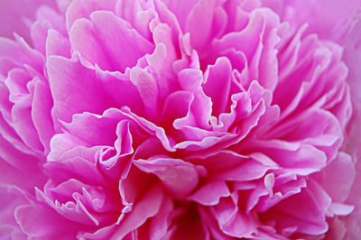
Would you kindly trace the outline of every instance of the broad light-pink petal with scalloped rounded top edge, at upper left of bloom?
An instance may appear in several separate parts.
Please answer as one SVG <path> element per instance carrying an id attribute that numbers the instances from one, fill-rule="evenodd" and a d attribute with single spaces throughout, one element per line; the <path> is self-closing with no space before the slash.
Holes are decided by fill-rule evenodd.
<path id="1" fill-rule="evenodd" d="M 80 19 L 74 23 L 70 32 L 71 45 L 100 68 L 124 72 L 140 57 L 153 51 L 151 42 L 115 14 L 99 11 L 91 14 L 90 19 L 91 22 Z"/>

